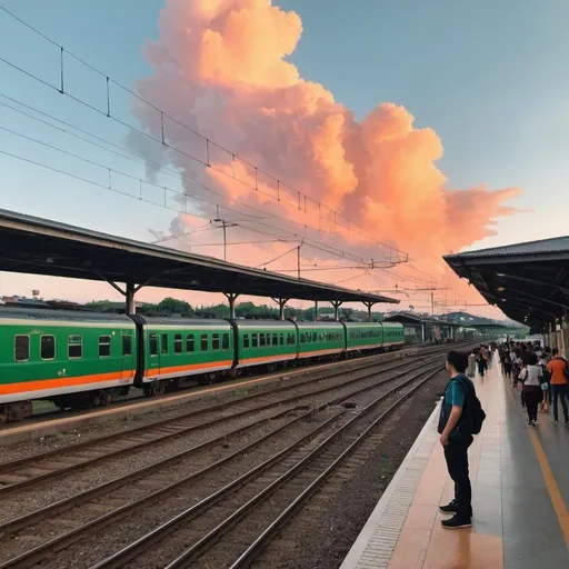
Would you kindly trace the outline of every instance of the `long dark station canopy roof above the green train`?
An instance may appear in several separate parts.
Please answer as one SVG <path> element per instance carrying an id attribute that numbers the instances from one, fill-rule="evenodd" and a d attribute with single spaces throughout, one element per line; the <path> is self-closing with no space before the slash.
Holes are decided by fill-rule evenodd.
<path id="1" fill-rule="evenodd" d="M 278 299 L 399 302 L 2 209 L 0 271 Z"/>

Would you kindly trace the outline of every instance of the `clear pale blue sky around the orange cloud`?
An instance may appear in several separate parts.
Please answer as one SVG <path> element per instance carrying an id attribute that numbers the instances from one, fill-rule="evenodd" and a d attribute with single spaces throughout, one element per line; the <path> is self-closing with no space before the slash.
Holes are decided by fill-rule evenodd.
<path id="1" fill-rule="evenodd" d="M 569 3 L 565 0 L 280 0 L 300 13 L 303 36 L 292 56 L 303 77 L 323 83 L 339 101 L 365 116 L 381 101 L 403 104 L 419 127 L 441 137 L 439 162 L 449 188 L 488 183 L 518 186 L 516 206 L 533 213 L 499 224 L 500 244 L 566 233 L 569 178 Z M 150 72 L 141 48 L 157 36 L 161 0 L 0 0 L 68 50 L 126 86 Z M 59 53 L 0 12 L 0 57 L 58 83 Z M 73 62 L 66 87 L 104 108 L 104 83 Z M 39 86 L 0 62 L 0 93 L 82 128 L 120 140 L 123 131 L 100 114 Z M 0 98 L 0 102 L 8 103 Z M 128 97 L 114 109 L 130 120 Z M 0 124 L 28 136 L 59 140 L 4 107 Z M 69 147 L 70 150 L 73 147 Z M 49 149 L 0 131 L 0 150 L 64 164 L 78 176 L 107 173 L 56 156 Z M 83 149 L 87 151 L 86 149 Z M 97 161 L 97 150 L 89 149 Z M 106 163 L 113 164 L 106 156 Z M 117 162 L 119 163 L 119 162 Z M 124 169 L 124 162 L 120 161 Z M 130 168 L 130 167 L 129 167 Z M 171 212 L 104 192 L 0 156 L 1 207 L 93 229 L 148 239 L 148 227 L 167 227 Z M 132 164 L 129 172 L 143 176 Z M 136 188 L 132 187 L 132 192 Z M 159 197 L 157 197 L 159 199 Z M 476 223 L 476 220 L 472 220 Z M 480 244 L 480 243 L 478 243 Z M 23 281 L 21 281 L 23 282 Z M 16 283 L 16 281 L 14 281 Z M 6 291 L 2 291 L 6 292 Z"/>

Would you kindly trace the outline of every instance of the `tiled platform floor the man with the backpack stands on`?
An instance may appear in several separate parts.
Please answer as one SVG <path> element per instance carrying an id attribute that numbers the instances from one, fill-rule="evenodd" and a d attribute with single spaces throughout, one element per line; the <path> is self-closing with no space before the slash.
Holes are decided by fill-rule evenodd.
<path id="1" fill-rule="evenodd" d="M 472 528 L 440 525 L 453 485 L 437 406 L 340 569 L 569 568 L 569 429 L 551 412 L 528 427 L 496 360 L 475 383 L 487 420 L 470 448 Z"/>

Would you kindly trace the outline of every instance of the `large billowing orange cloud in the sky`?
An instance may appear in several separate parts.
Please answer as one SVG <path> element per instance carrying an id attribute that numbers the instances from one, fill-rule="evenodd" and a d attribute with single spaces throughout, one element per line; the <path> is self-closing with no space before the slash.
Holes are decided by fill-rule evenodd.
<path id="1" fill-rule="evenodd" d="M 159 40 L 144 49 L 153 73 L 139 82 L 138 90 L 222 147 L 206 148 L 199 137 L 167 121 L 168 144 L 209 159 L 212 168 L 201 168 L 171 148 L 167 160 L 187 178 L 276 216 L 273 227 L 280 223 L 300 237 L 366 258 L 381 257 L 378 243 L 359 230 L 333 224 L 330 210 L 337 210 L 365 233 L 409 252 L 416 267 L 473 298 L 449 276 L 441 256 L 492 234 L 497 219 L 515 212 L 505 202 L 520 190 L 448 189 L 436 166 L 443 154 L 440 138 L 432 129 L 416 128 L 407 109 L 382 103 L 357 121 L 323 86 L 300 77 L 287 57 L 301 32 L 300 17 L 269 0 L 166 0 Z M 160 138 L 156 110 L 137 103 L 134 112 Z M 233 160 L 233 152 L 243 161 Z M 259 178 L 248 164 L 270 172 L 274 180 Z M 284 183 L 277 188 L 276 179 Z M 189 190 L 196 192 L 194 187 Z M 281 201 L 269 197 L 278 191 L 283 192 Z M 310 199 L 301 202 L 298 192 Z M 296 208 L 284 204 L 297 199 Z M 307 226 L 305 233 L 298 224 Z M 233 260 L 258 264 L 269 249 L 279 254 L 283 248 L 248 247 Z M 317 256 L 326 261 L 322 251 L 311 259 Z M 319 278 L 326 280 L 326 274 Z M 353 286 L 365 288 L 359 281 Z"/>

